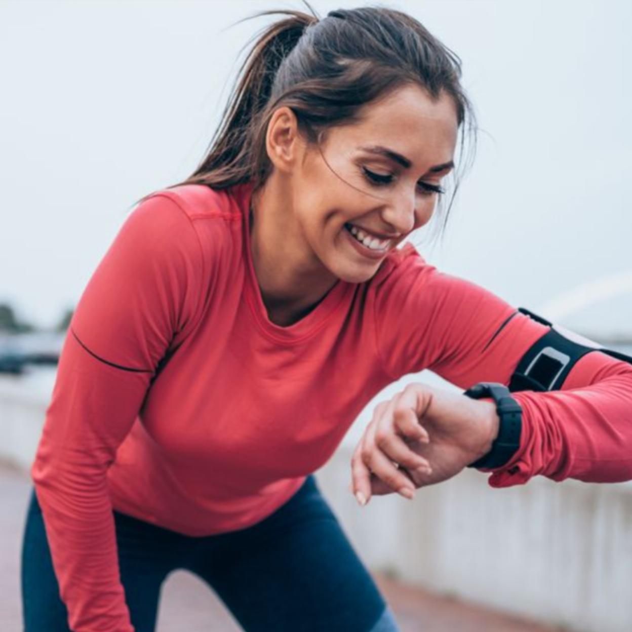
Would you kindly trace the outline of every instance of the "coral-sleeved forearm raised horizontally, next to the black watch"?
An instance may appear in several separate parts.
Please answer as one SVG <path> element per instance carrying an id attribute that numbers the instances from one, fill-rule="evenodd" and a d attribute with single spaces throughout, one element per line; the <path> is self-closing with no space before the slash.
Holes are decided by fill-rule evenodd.
<path id="1" fill-rule="evenodd" d="M 492 487 L 525 483 L 538 474 L 558 481 L 632 479 L 632 367 L 588 354 L 562 391 L 513 396 L 523 408 L 520 447 L 492 473 Z"/>

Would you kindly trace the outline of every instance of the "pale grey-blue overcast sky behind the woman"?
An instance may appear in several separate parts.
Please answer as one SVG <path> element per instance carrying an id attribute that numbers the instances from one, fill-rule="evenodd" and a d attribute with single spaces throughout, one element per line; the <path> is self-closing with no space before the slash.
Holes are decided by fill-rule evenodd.
<path id="1" fill-rule="evenodd" d="M 383 4 L 461 57 L 483 130 L 427 259 L 532 310 L 632 270 L 632 3 Z M 266 18 L 228 27 L 283 7 L 301 3 L 0 2 L 0 301 L 42 327 L 75 305 L 133 201 L 202 157 Z M 632 333 L 631 315 L 628 292 L 564 324 Z"/>

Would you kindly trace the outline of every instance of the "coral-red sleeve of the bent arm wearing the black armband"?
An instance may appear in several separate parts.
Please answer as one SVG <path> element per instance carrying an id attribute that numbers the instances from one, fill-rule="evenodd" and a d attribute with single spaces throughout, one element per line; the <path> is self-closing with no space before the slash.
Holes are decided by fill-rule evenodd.
<path id="1" fill-rule="evenodd" d="M 490 291 L 411 253 L 375 301 L 382 363 L 393 379 L 428 368 L 466 389 L 509 386 L 522 356 L 549 331 Z M 513 393 L 523 408 L 520 447 L 491 472 L 492 487 L 552 480 L 632 478 L 632 365 L 591 351 L 559 391 Z M 491 401 L 491 400 L 490 400 Z"/>

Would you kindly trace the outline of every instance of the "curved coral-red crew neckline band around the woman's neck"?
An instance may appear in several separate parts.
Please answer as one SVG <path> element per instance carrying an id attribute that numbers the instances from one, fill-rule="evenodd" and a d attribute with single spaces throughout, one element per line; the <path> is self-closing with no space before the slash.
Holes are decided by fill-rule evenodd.
<path id="1" fill-rule="evenodd" d="M 253 185 L 250 182 L 242 183 L 241 185 L 235 185 L 233 189 L 233 195 L 238 202 L 241 216 L 243 217 L 241 229 L 243 235 L 243 258 L 246 266 L 246 301 L 259 328 L 267 337 L 278 343 L 299 343 L 313 336 L 327 323 L 332 315 L 342 306 L 343 299 L 353 293 L 357 284 L 338 279 L 336 284 L 334 284 L 324 298 L 320 300 L 318 305 L 300 320 L 285 327 L 272 322 L 265 308 L 252 260 L 252 245 L 250 243 L 250 199 L 252 198 Z"/>

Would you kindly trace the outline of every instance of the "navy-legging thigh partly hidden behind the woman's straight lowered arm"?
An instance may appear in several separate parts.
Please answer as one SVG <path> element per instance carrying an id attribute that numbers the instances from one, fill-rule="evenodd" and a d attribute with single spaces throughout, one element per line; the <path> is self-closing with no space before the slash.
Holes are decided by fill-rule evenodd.
<path id="1" fill-rule="evenodd" d="M 153 632 L 162 581 L 169 571 L 159 554 L 150 554 L 142 521 L 114 512 L 121 583 L 137 632 Z M 151 525 L 149 525 L 151 526 Z M 138 545 L 144 540 L 145 548 Z M 162 549 L 154 547 L 158 552 Z M 44 519 L 35 490 L 28 504 L 21 550 L 24 632 L 70 632 L 68 610 L 59 596 Z"/>

